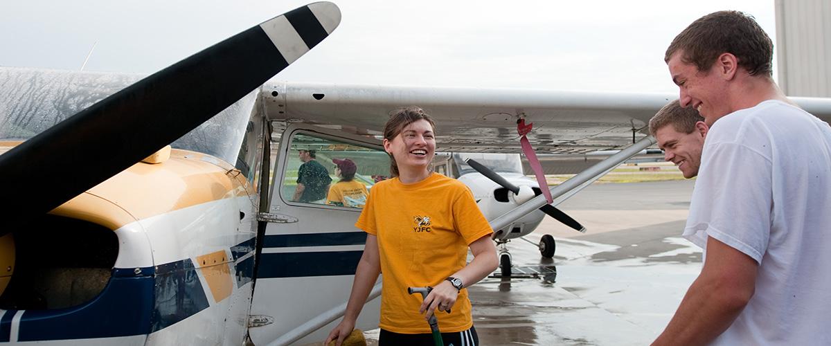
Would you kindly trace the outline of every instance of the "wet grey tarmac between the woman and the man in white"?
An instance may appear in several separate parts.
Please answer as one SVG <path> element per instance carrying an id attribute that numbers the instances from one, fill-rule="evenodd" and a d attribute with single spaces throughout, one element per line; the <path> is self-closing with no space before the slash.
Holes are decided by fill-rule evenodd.
<path id="1" fill-rule="evenodd" d="M 701 249 L 681 237 L 694 183 L 595 183 L 560 204 L 588 231 L 543 219 L 526 239 L 554 236 L 553 259 L 526 241 L 509 243 L 515 269 L 557 274 L 471 286 L 479 344 L 650 344 L 701 270 Z M 368 344 L 377 333 L 367 331 Z"/>

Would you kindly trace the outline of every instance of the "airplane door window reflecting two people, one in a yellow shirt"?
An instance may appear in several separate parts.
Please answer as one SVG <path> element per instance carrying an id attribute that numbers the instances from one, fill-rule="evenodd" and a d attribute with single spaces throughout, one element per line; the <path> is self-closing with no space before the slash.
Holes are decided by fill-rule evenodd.
<path id="1" fill-rule="evenodd" d="M 383 150 L 296 134 L 289 147 L 281 196 L 288 202 L 362 208 L 375 183 L 389 178 Z"/>

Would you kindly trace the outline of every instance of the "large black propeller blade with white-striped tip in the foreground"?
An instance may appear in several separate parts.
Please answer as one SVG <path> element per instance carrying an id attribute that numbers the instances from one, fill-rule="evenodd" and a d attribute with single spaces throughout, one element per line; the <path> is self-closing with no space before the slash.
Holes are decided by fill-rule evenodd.
<path id="1" fill-rule="evenodd" d="M 274 17 L 81 110 L 0 156 L 3 219 L 51 211 L 234 104 L 326 38 L 331 2 Z M 14 202 L 8 202 L 12 201 Z M 2 227 L 0 236 L 12 227 Z"/>

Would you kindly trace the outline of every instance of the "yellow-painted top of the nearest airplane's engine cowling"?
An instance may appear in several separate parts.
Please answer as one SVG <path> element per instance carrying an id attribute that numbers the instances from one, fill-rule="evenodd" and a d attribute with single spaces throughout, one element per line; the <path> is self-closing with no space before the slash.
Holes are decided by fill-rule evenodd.
<path id="1" fill-rule="evenodd" d="M 135 163 L 50 213 L 116 230 L 165 212 L 246 196 L 248 190 L 248 181 L 219 158 L 173 149 L 164 163 Z"/>

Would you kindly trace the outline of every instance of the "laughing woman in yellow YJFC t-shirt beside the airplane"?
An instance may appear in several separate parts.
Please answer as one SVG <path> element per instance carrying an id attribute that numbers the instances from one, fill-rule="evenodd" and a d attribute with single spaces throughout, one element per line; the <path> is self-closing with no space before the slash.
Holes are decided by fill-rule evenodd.
<path id="1" fill-rule="evenodd" d="M 379 344 L 432 345 L 426 319 L 436 314 L 445 344 L 479 344 L 465 287 L 496 270 L 493 233 L 463 183 L 430 172 L 435 124 L 418 107 L 398 110 L 384 129 L 393 178 L 376 183 L 355 226 L 366 231 L 347 312 L 326 342 L 352 332 L 383 272 Z M 467 251 L 474 255 L 466 263 Z M 422 301 L 407 287 L 433 287 Z M 450 312 L 448 312 L 450 311 Z M 464 341 L 463 341 L 464 340 Z"/>

